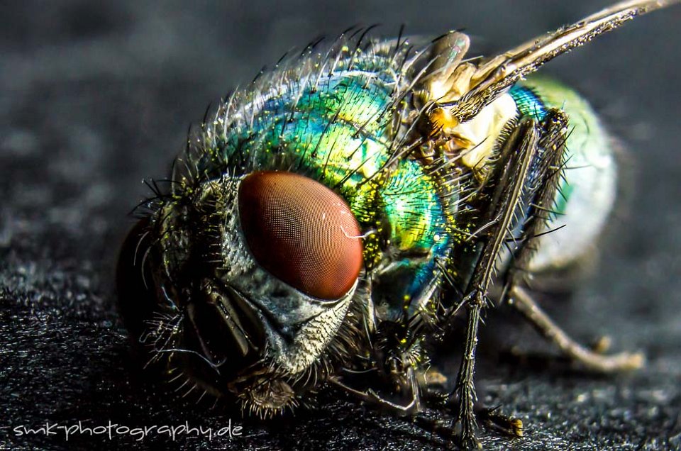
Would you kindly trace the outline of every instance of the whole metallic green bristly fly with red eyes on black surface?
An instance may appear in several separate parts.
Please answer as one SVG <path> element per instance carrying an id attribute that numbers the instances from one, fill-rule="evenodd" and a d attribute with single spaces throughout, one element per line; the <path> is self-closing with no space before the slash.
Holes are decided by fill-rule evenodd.
<path id="1" fill-rule="evenodd" d="M 167 189 L 150 184 L 118 263 L 131 336 L 199 399 L 270 417 L 333 389 L 423 421 L 434 404 L 463 447 L 483 413 L 523 434 L 477 405 L 490 306 L 586 369 L 641 367 L 579 345 L 533 299 L 533 279 L 592 249 L 616 190 L 597 116 L 533 72 L 674 3 L 619 3 L 494 57 L 467 55 L 459 31 L 419 46 L 357 28 L 283 57 L 190 131 Z M 459 318 L 448 392 L 429 356 Z"/>

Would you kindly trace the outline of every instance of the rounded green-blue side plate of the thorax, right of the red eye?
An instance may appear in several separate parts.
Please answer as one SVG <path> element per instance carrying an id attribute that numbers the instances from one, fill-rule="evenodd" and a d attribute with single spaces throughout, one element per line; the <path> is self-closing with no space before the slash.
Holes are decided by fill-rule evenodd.
<path id="1" fill-rule="evenodd" d="M 372 299 L 380 318 L 394 319 L 423 308 L 439 286 L 451 243 L 453 194 L 424 167 L 406 160 L 380 189 L 384 223 L 382 261 L 371 273 Z"/>

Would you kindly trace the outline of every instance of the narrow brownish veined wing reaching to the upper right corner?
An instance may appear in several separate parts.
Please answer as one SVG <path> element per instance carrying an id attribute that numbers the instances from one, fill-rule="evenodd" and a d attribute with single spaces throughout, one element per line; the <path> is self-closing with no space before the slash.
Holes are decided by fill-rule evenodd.
<path id="1" fill-rule="evenodd" d="M 545 62 L 583 45 L 602 33 L 614 30 L 637 16 L 664 8 L 681 0 L 633 0 L 614 4 L 553 33 L 538 36 L 478 66 L 470 79 L 470 89 L 455 101 L 437 102 L 450 106 L 459 123 L 473 118 L 486 105 Z M 436 99 L 435 99 L 436 100 Z"/>

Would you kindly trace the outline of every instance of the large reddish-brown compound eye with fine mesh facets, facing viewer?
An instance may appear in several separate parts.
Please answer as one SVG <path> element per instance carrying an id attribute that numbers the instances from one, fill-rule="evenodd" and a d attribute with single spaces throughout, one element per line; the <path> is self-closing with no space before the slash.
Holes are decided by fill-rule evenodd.
<path id="1" fill-rule="evenodd" d="M 255 260 L 319 299 L 348 293 L 362 269 L 360 228 L 348 204 L 292 172 L 253 172 L 239 187 L 241 227 Z"/>

